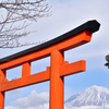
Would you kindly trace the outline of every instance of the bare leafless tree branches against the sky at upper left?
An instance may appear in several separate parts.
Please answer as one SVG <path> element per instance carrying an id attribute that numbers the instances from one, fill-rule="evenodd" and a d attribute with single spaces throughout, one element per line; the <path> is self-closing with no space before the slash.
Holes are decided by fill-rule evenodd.
<path id="1" fill-rule="evenodd" d="M 48 16 L 49 9 L 45 0 L 0 0 L 0 48 L 28 45 L 19 39 L 31 34 L 27 27 Z"/>

